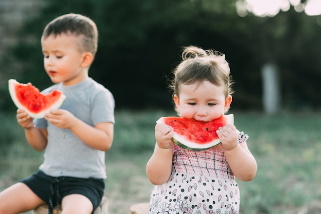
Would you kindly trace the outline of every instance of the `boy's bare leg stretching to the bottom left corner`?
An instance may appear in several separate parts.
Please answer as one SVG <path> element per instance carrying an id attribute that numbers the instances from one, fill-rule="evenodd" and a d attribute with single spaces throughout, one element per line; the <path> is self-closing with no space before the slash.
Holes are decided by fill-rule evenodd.
<path id="1" fill-rule="evenodd" d="M 16 214 L 45 204 L 24 183 L 16 183 L 0 192 L 0 214 Z"/>

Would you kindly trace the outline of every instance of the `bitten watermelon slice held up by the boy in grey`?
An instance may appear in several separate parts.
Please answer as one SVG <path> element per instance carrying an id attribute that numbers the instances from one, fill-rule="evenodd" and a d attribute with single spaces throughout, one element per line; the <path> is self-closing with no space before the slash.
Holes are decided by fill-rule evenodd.
<path id="1" fill-rule="evenodd" d="M 66 96 L 54 89 L 51 93 L 43 94 L 31 83 L 23 84 L 15 79 L 9 79 L 11 99 L 18 109 L 24 109 L 32 118 L 44 118 L 50 110 L 59 109 Z"/>

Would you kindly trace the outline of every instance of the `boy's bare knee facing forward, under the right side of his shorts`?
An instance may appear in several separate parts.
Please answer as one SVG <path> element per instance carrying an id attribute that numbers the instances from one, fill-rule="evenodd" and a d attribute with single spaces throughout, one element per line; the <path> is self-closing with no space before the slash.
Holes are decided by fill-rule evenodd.
<path id="1" fill-rule="evenodd" d="M 90 214 L 93 211 L 93 205 L 87 197 L 80 194 L 72 194 L 63 198 L 62 209 L 62 214 Z"/>

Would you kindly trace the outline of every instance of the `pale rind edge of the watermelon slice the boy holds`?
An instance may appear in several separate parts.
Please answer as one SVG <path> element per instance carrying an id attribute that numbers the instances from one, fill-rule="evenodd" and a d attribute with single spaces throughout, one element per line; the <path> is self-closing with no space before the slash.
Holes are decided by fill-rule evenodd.
<path id="1" fill-rule="evenodd" d="M 63 103 L 66 100 L 66 96 L 64 94 L 61 95 L 61 97 L 58 99 L 58 101 L 56 101 L 55 103 L 53 103 L 50 108 L 41 111 L 39 113 L 33 113 L 31 111 L 29 111 L 22 103 L 20 103 L 15 96 L 15 85 L 16 84 L 22 84 L 22 85 L 27 85 L 24 83 L 20 83 L 18 81 L 16 81 L 15 79 L 9 79 L 9 93 L 11 96 L 11 99 L 13 101 L 13 103 L 17 106 L 18 109 L 23 109 L 25 110 L 25 112 L 32 118 L 44 118 L 45 114 L 49 113 L 50 110 L 57 110 L 60 108 L 60 106 L 63 105 Z"/>

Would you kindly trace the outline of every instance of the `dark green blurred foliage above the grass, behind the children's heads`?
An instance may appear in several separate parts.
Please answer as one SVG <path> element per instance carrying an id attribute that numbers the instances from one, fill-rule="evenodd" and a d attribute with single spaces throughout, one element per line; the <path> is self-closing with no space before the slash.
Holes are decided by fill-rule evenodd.
<path id="1" fill-rule="evenodd" d="M 280 71 L 285 109 L 319 109 L 321 79 L 320 16 L 292 7 L 275 17 L 238 16 L 236 0 L 44 0 L 39 14 L 26 20 L 19 41 L 0 66 L 6 77 L 45 89 L 40 37 L 46 24 L 65 13 L 89 16 L 99 30 L 98 53 L 90 76 L 114 94 L 118 109 L 172 108 L 167 77 L 180 61 L 183 46 L 196 45 L 226 54 L 235 80 L 233 108 L 261 110 L 265 63 Z M 0 109 L 11 110 L 7 88 Z"/>

